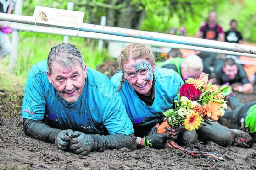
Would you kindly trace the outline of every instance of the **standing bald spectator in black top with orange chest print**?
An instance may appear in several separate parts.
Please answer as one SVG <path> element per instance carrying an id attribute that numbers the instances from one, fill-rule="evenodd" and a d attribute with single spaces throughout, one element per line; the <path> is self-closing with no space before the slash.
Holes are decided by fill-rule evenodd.
<path id="1" fill-rule="evenodd" d="M 217 14 L 214 11 L 209 13 L 208 22 L 206 25 L 201 27 L 198 34 L 198 38 L 208 39 L 208 40 L 220 40 L 224 41 L 224 33 L 222 27 L 217 24 Z"/>

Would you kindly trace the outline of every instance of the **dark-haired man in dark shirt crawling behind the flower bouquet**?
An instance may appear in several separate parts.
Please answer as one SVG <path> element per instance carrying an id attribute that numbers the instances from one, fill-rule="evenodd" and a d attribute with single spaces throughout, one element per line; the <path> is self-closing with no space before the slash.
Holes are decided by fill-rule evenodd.
<path id="1" fill-rule="evenodd" d="M 245 94 L 253 92 L 253 85 L 249 82 L 243 66 L 236 64 L 234 59 L 227 58 L 223 66 L 216 67 L 214 72 L 217 86 L 229 83 L 233 91 Z"/>

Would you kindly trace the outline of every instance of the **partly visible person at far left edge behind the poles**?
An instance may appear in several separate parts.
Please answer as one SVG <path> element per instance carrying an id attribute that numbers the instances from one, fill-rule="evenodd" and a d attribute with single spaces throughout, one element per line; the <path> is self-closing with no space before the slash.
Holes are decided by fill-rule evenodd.
<path id="1" fill-rule="evenodd" d="M 0 12 L 11 14 L 15 2 L 16 0 L 0 0 Z M 11 42 L 7 35 L 7 33 L 11 32 L 11 27 L 6 27 L 3 22 L 0 23 L 0 59 L 6 57 L 11 52 Z"/>

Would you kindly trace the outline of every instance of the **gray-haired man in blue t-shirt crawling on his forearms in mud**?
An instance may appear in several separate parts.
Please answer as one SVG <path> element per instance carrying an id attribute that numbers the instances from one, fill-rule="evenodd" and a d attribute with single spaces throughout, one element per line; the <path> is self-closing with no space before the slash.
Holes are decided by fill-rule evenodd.
<path id="1" fill-rule="evenodd" d="M 61 150 L 87 155 L 136 149 L 133 125 L 116 88 L 86 67 L 80 51 L 68 43 L 51 48 L 47 61 L 31 67 L 22 117 L 26 135 Z"/>

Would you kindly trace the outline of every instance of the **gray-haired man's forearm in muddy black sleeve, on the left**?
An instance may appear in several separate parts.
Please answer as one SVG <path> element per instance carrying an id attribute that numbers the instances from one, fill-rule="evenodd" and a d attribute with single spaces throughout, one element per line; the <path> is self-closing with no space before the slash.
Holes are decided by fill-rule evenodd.
<path id="1" fill-rule="evenodd" d="M 48 143 L 55 142 L 55 136 L 61 129 L 51 128 L 41 120 L 23 118 L 23 130 L 27 136 Z"/>

